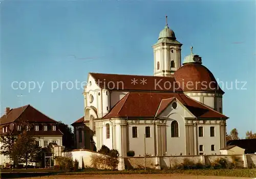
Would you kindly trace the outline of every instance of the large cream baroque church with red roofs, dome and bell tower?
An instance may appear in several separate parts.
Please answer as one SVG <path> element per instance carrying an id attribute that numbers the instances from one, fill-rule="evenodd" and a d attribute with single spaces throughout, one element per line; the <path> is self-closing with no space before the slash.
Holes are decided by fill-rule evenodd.
<path id="1" fill-rule="evenodd" d="M 75 121 L 77 149 L 102 145 L 136 156 L 215 155 L 226 145 L 222 96 L 214 75 L 166 25 L 154 50 L 154 75 L 88 74 L 84 116 Z M 144 147 L 145 141 L 145 147 Z"/>

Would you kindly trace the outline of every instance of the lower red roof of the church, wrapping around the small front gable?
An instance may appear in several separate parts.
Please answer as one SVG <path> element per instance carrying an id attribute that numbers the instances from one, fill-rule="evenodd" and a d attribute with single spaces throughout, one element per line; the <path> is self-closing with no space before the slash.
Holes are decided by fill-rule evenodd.
<path id="1" fill-rule="evenodd" d="M 103 119 L 114 117 L 154 117 L 160 107 L 164 110 L 171 98 L 177 98 L 193 115 L 198 118 L 228 117 L 212 110 L 198 101 L 180 93 L 129 92 L 106 114 Z M 163 99 L 166 99 L 165 101 Z M 162 102 L 161 104 L 161 101 Z M 169 103 L 168 103 L 169 102 Z M 158 113 L 159 114 L 159 113 Z M 158 115 L 157 114 L 157 115 Z"/>

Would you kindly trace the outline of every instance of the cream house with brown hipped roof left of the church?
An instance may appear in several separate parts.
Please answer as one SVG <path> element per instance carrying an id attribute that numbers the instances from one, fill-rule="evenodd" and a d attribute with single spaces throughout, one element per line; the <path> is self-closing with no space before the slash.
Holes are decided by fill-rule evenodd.
<path id="1" fill-rule="evenodd" d="M 38 145 L 42 148 L 54 143 L 63 150 L 63 133 L 58 129 L 57 121 L 31 105 L 14 109 L 6 108 L 5 114 L 0 118 L 0 135 L 5 135 L 7 132 L 18 135 L 22 129 L 26 129 L 28 135 L 36 137 Z M 0 165 L 11 163 L 9 158 L 4 155 L 1 155 L 0 158 Z"/>

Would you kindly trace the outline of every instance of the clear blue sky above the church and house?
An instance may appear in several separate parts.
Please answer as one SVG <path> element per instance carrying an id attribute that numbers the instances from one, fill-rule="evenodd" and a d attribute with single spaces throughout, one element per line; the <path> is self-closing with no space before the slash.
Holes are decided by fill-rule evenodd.
<path id="1" fill-rule="evenodd" d="M 153 49 L 168 24 L 182 45 L 182 59 L 202 57 L 216 79 L 227 82 L 223 112 L 227 131 L 256 132 L 255 2 L 175 1 L 2 1 L 1 112 L 31 104 L 55 120 L 71 124 L 83 116 L 82 89 L 88 72 L 153 74 Z M 93 58 L 81 60 L 77 58 Z M 246 90 L 234 82 L 247 82 Z M 29 92 L 12 82 L 44 85 Z M 59 88 L 52 91 L 51 83 Z M 15 84 L 15 88 L 17 84 Z M 24 87 L 24 84 L 23 86 Z M 240 83 L 239 88 L 242 87 Z"/>

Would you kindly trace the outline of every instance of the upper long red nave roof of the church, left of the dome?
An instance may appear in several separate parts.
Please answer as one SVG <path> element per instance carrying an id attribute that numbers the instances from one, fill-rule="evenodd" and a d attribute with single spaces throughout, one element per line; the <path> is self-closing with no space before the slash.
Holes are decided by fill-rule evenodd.
<path id="1" fill-rule="evenodd" d="M 100 88 L 119 90 L 182 92 L 182 89 L 179 88 L 179 84 L 175 83 L 175 79 L 173 77 L 105 73 L 89 74 L 93 76 Z M 136 84 L 132 83 L 134 80 L 137 80 L 135 81 Z"/>

